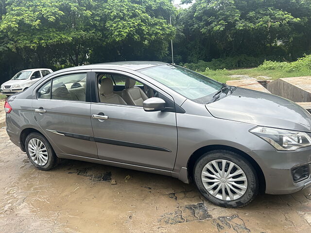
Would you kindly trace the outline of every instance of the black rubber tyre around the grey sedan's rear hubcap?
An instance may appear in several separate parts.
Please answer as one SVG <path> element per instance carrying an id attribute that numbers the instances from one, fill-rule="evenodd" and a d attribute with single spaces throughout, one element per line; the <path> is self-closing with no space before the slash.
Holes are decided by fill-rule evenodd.
<path id="1" fill-rule="evenodd" d="M 35 161 L 31 158 L 30 156 L 30 151 L 28 149 L 28 145 L 31 139 L 39 139 L 45 146 L 46 151 L 48 153 L 48 160 L 46 162 L 46 164 L 44 165 L 39 165 L 37 163 L 35 163 Z M 25 150 L 28 156 L 28 159 L 30 160 L 30 162 L 38 169 L 40 170 L 50 170 L 52 169 L 54 166 L 57 165 L 57 157 L 56 154 L 54 152 L 54 150 L 52 149 L 51 144 L 48 142 L 48 140 L 41 134 L 41 133 L 29 133 L 26 137 L 25 140 Z"/>

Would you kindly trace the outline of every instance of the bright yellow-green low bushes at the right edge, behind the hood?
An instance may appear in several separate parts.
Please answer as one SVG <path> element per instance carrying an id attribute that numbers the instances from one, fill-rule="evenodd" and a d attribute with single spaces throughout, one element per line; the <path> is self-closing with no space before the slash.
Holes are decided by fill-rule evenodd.
<path id="1" fill-rule="evenodd" d="M 276 61 L 264 61 L 262 65 L 258 67 L 259 70 L 282 70 L 286 72 L 294 72 L 300 70 L 311 71 L 311 55 L 305 55 L 302 58 L 298 58 L 295 62 L 276 62 Z"/>

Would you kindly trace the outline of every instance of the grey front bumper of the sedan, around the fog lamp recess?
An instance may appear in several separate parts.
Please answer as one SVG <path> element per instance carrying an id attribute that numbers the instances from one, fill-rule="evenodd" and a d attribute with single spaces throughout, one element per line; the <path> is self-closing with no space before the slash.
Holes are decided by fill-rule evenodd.
<path id="1" fill-rule="evenodd" d="M 265 178 L 267 194 L 289 194 L 311 186 L 311 147 L 295 151 L 245 151 L 259 164 Z M 309 166 L 309 177 L 295 183 L 292 170 Z"/>

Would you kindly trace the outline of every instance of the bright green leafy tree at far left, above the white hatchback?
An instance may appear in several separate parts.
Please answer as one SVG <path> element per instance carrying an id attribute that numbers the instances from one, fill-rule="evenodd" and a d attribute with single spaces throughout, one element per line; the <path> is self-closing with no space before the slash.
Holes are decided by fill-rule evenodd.
<path id="1" fill-rule="evenodd" d="M 10 0 L 0 29 L 8 34 L 8 47 L 34 50 L 39 65 L 45 66 L 47 52 L 68 56 L 75 66 L 101 37 L 100 1 L 93 0 Z"/>

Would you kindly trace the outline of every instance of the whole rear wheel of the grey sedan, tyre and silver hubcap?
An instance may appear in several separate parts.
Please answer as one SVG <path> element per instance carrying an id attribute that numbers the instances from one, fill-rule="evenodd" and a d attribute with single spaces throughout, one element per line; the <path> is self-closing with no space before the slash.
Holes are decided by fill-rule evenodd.
<path id="1" fill-rule="evenodd" d="M 51 144 L 40 133 L 28 134 L 25 149 L 30 162 L 40 170 L 50 170 L 57 164 Z"/>

